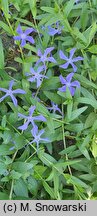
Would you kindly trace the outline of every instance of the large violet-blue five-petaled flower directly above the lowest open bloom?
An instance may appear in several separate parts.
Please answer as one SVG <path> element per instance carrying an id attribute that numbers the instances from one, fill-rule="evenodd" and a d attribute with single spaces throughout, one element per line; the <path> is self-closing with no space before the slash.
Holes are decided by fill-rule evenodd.
<path id="1" fill-rule="evenodd" d="M 43 115 L 38 115 L 38 116 L 32 116 L 34 111 L 35 111 L 36 107 L 35 106 L 31 106 L 29 108 L 29 115 L 28 116 L 25 116 L 21 113 L 18 113 L 18 116 L 25 119 L 26 122 L 22 125 L 22 126 L 19 126 L 18 129 L 20 130 L 26 130 L 28 128 L 28 125 L 31 123 L 33 128 L 34 129 L 37 129 L 37 125 L 34 123 L 34 121 L 43 121 L 45 122 L 46 121 L 46 118 L 43 116 Z"/>

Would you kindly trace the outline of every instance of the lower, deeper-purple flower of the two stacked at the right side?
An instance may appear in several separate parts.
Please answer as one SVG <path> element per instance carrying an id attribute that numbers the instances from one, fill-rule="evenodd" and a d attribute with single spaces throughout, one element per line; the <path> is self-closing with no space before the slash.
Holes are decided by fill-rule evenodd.
<path id="1" fill-rule="evenodd" d="M 68 88 L 71 95 L 72 96 L 74 95 L 75 87 L 80 88 L 80 83 L 77 80 L 71 82 L 73 75 L 74 75 L 74 73 L 70 73 L 66 77 L 66 79 L 64 79 L 64 77 L 62 75 L 60 75 L 60 81 L 63 84 L 63 86 L 58 89 L 59 91 L 65 92 L 66 88 Z"/>

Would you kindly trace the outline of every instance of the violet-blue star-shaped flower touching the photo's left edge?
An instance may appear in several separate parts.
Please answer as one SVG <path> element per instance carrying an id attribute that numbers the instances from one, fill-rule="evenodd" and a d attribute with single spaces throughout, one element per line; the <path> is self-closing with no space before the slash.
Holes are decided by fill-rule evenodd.
<path id="1" fill-rule="evenodd" d="M 0 102 L 2 102 L 6 97 L 10 96 L 14 106 L 17 106 L 17 99 L 15 98 L 14 94 L 26 94 L 26 92 L 22 89 L 12 90 L 14 85 L 14 80 L 11 80 L 9 83 L 9 89 L 0 88 L 0 91 L 5 92 L 6 94 L 0 98 Z"/>

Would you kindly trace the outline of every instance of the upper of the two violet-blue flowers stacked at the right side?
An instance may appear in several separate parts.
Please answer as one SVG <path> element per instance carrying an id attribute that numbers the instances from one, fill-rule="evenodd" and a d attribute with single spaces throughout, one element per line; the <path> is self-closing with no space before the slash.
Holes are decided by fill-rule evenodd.
<path id="1" fill-rule="evenodd" d="M 66 68 L 68 68 L 69 65 L 71 65 L 73 67 L 74 72 L 77 71 L 77 67 L 74 64 L 74 62 L 81 61 L 81 60 L 83 60 L 83 58 L 81 56 L 73 58 L 75 50 L 76 50 L 76 48 L 73 48 L 73 49 L 70 50 L 70 56 L 69 56 L 69 58 L 67 58 L 67 56 L 64 55 L 64 53 L 63 53 L 62 50 L 59 51 L 60 58 L 64 59 L 66 61 L 65 64 L 60 65 L 61 68 L 66 69 Z"/>

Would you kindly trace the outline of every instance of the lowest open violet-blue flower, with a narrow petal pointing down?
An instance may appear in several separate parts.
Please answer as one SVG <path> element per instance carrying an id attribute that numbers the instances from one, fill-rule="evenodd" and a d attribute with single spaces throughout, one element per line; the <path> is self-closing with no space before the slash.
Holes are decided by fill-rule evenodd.
<path id="1" fill-rule="evenodd" d="M 39 147 L 39 143 L 49 142 L 48 138 L 41 138 L 41 136 L 42 136 L 42 134 L 44 134 L 44 132 L 45 132 L 44 129 L 38 131 L 37 128 L 34 128 L 34 129 L 31 130 L 31 133 L 32 133 L 32 136 L 34 137 L 34 139 L 33 139 L 33 141 L 30 142 L 30 144 L 36 143 L 37 150 L 38 150 L 38 147 Z"/>

